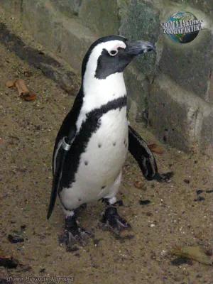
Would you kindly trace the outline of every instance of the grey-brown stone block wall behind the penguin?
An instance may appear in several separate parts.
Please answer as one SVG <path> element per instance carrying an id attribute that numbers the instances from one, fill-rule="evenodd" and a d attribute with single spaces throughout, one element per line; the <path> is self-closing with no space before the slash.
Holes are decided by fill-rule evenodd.
<path id="1" fill-rule="evenodd" d="M 138 57 L 126 70 L 136 120 L 165 143 L 212 153 L 212 0 L 1 0 L 0 6 L 21 18 L 36 40 L 60 53 L 77 72 L 100 36 L 156 43 L 155 53 Z M 186 44 L 163 35 L 160 26 L 182 10 L 203 21 L 197 38 Z"/>

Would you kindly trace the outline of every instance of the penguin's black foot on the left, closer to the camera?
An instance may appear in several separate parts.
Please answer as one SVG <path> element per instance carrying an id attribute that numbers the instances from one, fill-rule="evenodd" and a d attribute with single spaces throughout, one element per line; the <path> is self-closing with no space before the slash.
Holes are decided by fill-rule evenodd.
<path id="1" fill-rule="evenodd" d="M 65 233 L 60 238 L 60 242 L 66 244 L 67 251 L 77 251 L 77 246 L 86 246 L 89 239 L 93 238 L 92 232 L 85 230 L 77 224 L 74 216 L 65 218 Z"/>

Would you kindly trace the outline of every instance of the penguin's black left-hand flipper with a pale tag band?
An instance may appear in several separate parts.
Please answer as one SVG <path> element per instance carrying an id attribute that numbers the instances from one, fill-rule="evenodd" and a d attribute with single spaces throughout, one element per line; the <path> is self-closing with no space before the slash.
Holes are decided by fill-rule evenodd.
<path id="1" fill-rule="evenodd" d="M 50 218 L 53 208 L 55 205 L 55 200 L 58 194 L 58 189 L 60 187 L 60 178 L 62 176 L 62 170 L 65 163 L 65 157 L 67 155 L 67 152 L 70 150 L 73 138 L 75 137 L 75 131 L 70 131 L 70 135 L 66 138 L 68 143 L 65 142 L 65 137 L 62 138 L 60 143 L 58 143 L 58 149 L 57 152 L 55 152 L 55 166 L 54 168 L 54 174 L 53 174 L 53 185 L 50 195 L 50 204 L 48 208 L 48 214 L 47 219 Z"/>

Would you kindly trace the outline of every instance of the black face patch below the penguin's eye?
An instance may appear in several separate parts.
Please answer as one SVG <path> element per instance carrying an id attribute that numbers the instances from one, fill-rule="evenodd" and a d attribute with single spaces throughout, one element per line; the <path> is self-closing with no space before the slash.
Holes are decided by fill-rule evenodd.
<path id="1" fill-rule="evenodd" d="M 102 54 L 97 61 L 97 69 L 94 77 L 99 80 L 106 79 L 109 75 L 116 72 L 123 72 L 125 67 L 133 59 L 133 55 L 126 54 L 124 48 L 118 48 L 119 52 L 115 56 L 109 55 L 106 49 L 102 50 Z"/>

